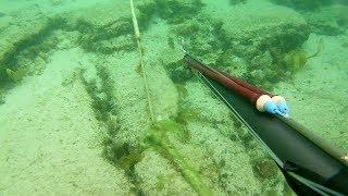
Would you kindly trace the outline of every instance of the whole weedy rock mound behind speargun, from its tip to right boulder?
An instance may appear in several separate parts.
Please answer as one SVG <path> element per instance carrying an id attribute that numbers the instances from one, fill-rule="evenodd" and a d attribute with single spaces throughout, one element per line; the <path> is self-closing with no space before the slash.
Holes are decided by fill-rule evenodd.
<path id="1" fill-rule="evenodd" d="M 252 83 L 270 86 L 291 73 L 285 54 L 308 39 L 304 17 L 269 1 L 207 7 L 192 20 L 172 25 L 176 39 L 201 61 Z"/>

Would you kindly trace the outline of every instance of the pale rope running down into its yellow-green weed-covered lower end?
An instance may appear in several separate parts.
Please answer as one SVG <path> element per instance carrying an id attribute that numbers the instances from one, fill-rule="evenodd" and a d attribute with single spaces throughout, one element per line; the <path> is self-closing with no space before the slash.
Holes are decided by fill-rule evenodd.
<path id="1" fill-rule="evenodd" d="M 134 33 L 137 40 L 137 47 L 139 52 L 139 64 L 142 71 L 142 78 L 145 84 L 147 111 L 151 123 L 150 130 L 147 132 L 145 138 L 145 145 L 154 148 L 163 157 L 169 159 L 171 163 L 179 171 L 184 179 L 192 186 L 192 188 L 200 195 L 207 195 L 211 193 L 210 188 L 204 184 L 199 172 L 187 161 L 175 145 L 171 142 L 170 135 L 175 135 L 179 140 L 186 140 L 189 138 L 188 132 L 181 124 L 171 119 L 156 120 L 153 113 L 153 103 L 150 94 L 150 83 L 147 78 L 147 72 L 145 70 L 144 50 L 140 41 L 140 33 L 138 27 L 138 21 L 135 14 L 135 8 L 133 0 L 130 0 L 130 9 L 134 23 Z"/>

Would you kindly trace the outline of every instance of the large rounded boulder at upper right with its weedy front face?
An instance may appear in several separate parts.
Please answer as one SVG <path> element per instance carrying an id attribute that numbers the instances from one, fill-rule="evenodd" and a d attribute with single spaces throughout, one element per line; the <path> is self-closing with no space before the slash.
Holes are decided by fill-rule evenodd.
<path id="1" fill-rule="evenodd" d="M 216 62 L 228 68 L 233 65 L 228 58 L 241 58 L 247 64 L 243 77 L 261 85 L 274 84 L 289 72 L 285 53 L 300 48 L 310 34 L 301 14 L 263 0 L 224 8 L 212 4 L 207 14 L 215 20 L 214 37 L 221 42 L 214 48 L 222 53 Z"/>

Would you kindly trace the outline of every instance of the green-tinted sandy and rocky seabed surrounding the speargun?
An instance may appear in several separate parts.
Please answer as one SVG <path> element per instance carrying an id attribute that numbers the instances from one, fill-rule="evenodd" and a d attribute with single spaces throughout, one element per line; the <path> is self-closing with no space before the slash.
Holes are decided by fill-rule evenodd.
<path id="1" fill-rule="evenodd" d="M 0 0 L 0 195 L 295 195 L 182 44 L 348 150 L 348 2 L 134 3 Z"/>

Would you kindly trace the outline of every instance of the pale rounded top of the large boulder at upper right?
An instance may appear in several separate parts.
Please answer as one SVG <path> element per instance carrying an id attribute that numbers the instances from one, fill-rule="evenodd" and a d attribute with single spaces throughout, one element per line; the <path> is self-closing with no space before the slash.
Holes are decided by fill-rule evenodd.
<path id="1" fill-rule="evenodd" d="M 224 12 L 216 19 L 223 21 L 232 47 L 240 53 L 253 56 L 270 48 L 288 51 L 309 36 L 306 20 L 299 13 L 268 1 L 249 1 Z"/>

